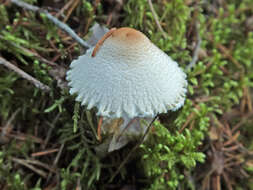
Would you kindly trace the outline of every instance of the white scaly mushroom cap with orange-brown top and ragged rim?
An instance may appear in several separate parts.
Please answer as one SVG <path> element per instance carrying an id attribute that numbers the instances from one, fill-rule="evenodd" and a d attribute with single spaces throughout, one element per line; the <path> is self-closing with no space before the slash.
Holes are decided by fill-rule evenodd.
<path id="1" fill-rule="evenodd" d="M 100 116 L 134 118 L 184 104 L 186 74 L 143 33 L 115 29 L 98 45 L 74 60 L 67 72 L 70 93 L 77 93 L 82 105 L 96 107 Z"/>

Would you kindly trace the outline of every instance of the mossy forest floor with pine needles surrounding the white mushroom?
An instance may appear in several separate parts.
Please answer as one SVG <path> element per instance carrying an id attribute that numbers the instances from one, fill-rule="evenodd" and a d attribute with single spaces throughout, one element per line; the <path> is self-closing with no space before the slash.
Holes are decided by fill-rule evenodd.
<path id="1" fill-rule="evenodd" d="M 253 189 L 252 0 L 26 2 L 84 39 L 95 22 L 141 30 L 185 69 L 188 95 L 137 149 L 99 154 L 95 111 L 65 81 L 84 49 L 45 14 L 0 0 L 0 189 Z"/>

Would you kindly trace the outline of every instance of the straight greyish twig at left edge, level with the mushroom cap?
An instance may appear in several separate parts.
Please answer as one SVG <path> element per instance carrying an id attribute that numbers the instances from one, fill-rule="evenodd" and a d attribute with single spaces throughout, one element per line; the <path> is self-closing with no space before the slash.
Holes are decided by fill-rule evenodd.
<path id="1" fill-rule="evenodd" d="M 23 70 L 21 70 L 20 68 L 18 68 L 17 66 L 13 65 L 12 63 L 10 63 L 9 61 L 5 60 L 2 57 L 0 57 L 0 64 L 3 64 L 5 67 L 7 67 L 8 69 L 14 71 L 15 73 L 17 73 L 22 78 L 28 80 L 35 87 L 37 87 L 37 88 L 39 88 L 39 89 L 41 89 L 43 91 L 46 91 L 46 92 L 50 90 L 49 86 L 41 83 L 39 80 L 35 79 L 31 75 L 27 74 L 26 72 L 24 72 Z"/>

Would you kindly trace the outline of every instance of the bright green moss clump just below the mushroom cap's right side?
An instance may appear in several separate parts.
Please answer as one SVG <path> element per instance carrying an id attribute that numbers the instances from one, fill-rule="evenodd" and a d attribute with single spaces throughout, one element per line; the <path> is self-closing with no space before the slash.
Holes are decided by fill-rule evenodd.
<path id="1" fill-rule="evenodd" d="M 202 138 L 198 138 L 195 131 L 172 134 L 160 123 L 155 123 L 154 134 L 140 146 L 140 164 L 145 175 L 152 179 L 147 189 L 176 189 L 184 179 L 182 167 L 190 170 L 197 161 L 204 162 L 205 155 L 196 151 L 203 133 Z"/>

